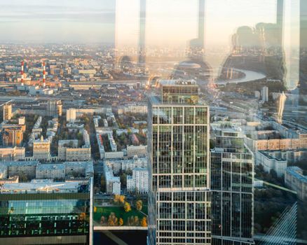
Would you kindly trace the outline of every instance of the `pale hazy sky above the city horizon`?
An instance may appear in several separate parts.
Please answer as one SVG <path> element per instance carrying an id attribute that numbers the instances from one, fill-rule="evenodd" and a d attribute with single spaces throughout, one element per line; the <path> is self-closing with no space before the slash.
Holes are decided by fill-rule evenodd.
<path id="1" fill-rule="evenodd" d="M 237 27 L 275 22 L 275 6 L 276 0 L 207 0 L 205 42 L 228 44 Z M 0 1 L 0 42 L 113 43 L 116 36 L 117 45 L 136 45 L 138 22 L 139 0 Z M 147 0 L 146 44 L 186 45 L 197 22 L 198 0 Z"/>

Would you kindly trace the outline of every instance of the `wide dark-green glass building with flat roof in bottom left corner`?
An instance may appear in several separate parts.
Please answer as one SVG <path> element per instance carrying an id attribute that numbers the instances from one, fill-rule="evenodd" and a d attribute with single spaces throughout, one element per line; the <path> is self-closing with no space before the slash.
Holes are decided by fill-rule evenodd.
<path id="1" fill-rule="evenodd" d="M 0 187 L 0 244 L 93 244 L 93 179 Z"/>

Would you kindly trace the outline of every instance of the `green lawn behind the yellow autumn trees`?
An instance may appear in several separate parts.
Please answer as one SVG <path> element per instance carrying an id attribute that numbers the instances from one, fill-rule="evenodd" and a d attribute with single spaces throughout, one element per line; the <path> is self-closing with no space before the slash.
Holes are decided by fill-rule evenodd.
<path id="1" fill-rule="evenodd" d="M 123 207 L 97 207 L 97 211 L 94 213 L 94 225 L 100 225 L 100 218 L 104 216 L 105 221 L 108 220 L 109 215 L 113 212 L 116 215 L 116 218 L 123 218 L 123 225 L 128 225 L 128 217 L 130 216 L 138 216 L 139 221 L 142 220 L 144 215 L 137 211 L 137 209 L 131 207 L 131 211 L 125 212 Z"/>

